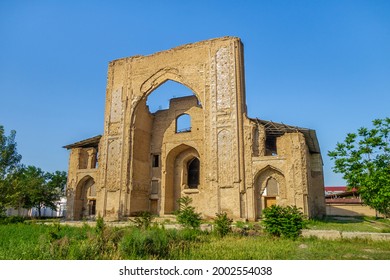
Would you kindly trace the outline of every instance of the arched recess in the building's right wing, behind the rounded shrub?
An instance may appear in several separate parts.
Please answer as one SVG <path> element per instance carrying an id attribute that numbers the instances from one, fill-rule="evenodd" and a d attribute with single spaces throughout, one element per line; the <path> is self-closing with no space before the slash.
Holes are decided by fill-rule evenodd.
<path id="1" fill-rule="evenodd" d="M 286 182 L 283 173 L 272 166 L 260 170 L 254 182 L 256 218 L 261 218 L 264 208 L 285 199 Z"/>

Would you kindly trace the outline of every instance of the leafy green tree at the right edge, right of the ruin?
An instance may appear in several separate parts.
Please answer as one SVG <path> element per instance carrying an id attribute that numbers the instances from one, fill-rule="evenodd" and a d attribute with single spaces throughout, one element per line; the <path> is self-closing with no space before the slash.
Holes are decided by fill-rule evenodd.
<path id="1" fill-rule="evenodd" d="M 390 215 L 390 118 L 376 119 L 371 129 L 348 133 L 328 156 L 333 170 L 343 174 L 349 187 L 357 188 L 363 202 Z"/>

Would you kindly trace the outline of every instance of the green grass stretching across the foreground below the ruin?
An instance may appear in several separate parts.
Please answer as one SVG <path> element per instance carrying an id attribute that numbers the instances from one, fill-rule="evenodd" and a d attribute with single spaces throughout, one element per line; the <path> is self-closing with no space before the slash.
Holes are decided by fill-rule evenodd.
<path id="1" fill-rule="evenodd" d="M 328 219 L 311 221 L 309 226 L 365 229 L 373 221 L 380 227 L 390 225 L 387 220 Z M 221 238 L 213 233 L 156 227 L 144 231 L 135 227 L 97 229 L 18 223 L 0 225 L 0 259 L 389 260 L 390 242 L 302 237 L 290 240 L 264 234 L 228 234 Z"/>

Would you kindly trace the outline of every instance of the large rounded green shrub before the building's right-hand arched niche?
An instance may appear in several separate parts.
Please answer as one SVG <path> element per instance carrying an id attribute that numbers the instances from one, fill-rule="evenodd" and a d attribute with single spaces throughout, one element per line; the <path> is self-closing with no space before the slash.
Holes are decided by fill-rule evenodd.
<path id="1" fill-rule="evenodd" d="M 263 211 L 264 230 L 277 237 L 297 238 L 306 225 L 303 213 L 296 206 L 272 205 Z"/>

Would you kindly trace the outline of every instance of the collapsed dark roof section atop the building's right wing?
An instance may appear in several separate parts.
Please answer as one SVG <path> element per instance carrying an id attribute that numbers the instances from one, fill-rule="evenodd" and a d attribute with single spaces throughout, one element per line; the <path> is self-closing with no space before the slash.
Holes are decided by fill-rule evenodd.
<path id="1" fill-rule="evenodd" d="M 264 126 L 265 132 L 269 136 L 279 137 L 285 133 L 301 132 L 305 136 L 306 144 L 309 147 L 310 153 L 320 154 L 320 145 L 318 144 L 316 131 L 313 129 L 291 126 L 273 121 L 260 120 L 258 118 L 250 118 L 250 120 Z"/>

